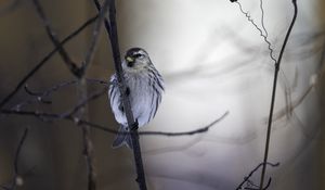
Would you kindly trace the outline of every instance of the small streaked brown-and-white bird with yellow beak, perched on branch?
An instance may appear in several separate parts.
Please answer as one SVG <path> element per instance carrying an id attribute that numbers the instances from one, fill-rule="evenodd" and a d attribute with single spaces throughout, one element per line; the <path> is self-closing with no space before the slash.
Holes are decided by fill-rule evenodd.
<path id="1" fill-rule="evenodd" d="M 152 63 L 147 52 L 141 48 L 131 48 L 122 60 L 123 77 L 127 85 L 131 110 L 139 127 L 146 125 L 156 115 L 164 92 L 164 79 Z M 130 131 L 121 102 L 117 75 L 109 80 L 108 99 L 115 119 L 119 123 L 119 132 Z M 119 148 L 126 144 L 132 149 L 132 139 L 128 134 L 118 134 L 112 144 Z"/>

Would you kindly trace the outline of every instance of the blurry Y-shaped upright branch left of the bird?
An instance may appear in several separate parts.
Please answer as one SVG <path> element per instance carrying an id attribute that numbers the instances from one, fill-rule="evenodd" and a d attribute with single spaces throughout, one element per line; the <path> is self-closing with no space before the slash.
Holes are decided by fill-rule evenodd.
<path id="1" fill-rule="evenodd" d="M 58 42 L 58 39 L 56 38 L 55 33 L 51 28 L 50 21 L 44 15 L 44 12 L 43 12 L 40 3 L 38 2 L 38 0 L 32 0 L 32 2 L 34 2 L 34 5 L 36 7 L 36 10 L 37 10 L 40 18 L 42 20 L 42 22 L 46 26 L 48 36 L 50 37 L 50 39 L 54 43 L 54 46 L 56 48 L 58 48 L 58 52 L 60 52 L 63 61 L 69 67 L 70 73 L 79 78 L 78 92 L 79 92 L 79 96 L 80 96 L 81 99 L 86 99 L 86 97 L 87 97 L 87 86 L 86 86 L 86 79 L 84 79 L 83 76 L 87 72 L 88 66 L 92 62 L 92 58 L 93 58 L 94 51 L 96 49 L 102 22 L 105 17 L 105 14 L 106 14 L 107 10 L 108 10 L 108 0 L 106 0 L 104 2 L 104 4 L 105 4 L 104 9 L 102 9 L 99 12 L 99 18 L 95 22 L 95 26 L 93 28 L 92 38 L 91 38 L 91 42 L 90 42 L 90 48 L 87 51 L 84 61 L 82 62 L 82 65 L 80 66 L 80 68 L 70 60 L 68 53 L 64 50 L 62 45 Z M 101 94 L 104 91 L 102 91 Z M 91 96 L 90 99 L 94 99 L 95 97 L 100 97 L 100 94 Z M 84 100 L 84 102 L 87 102 L 87 100 Z M 84 105 L 86 104 L 87 103 L 83 104 L 81 102 L 80 104 L 75 106 L 75 109 L 73 109 L 70 112 L 68 112 L 67 115 L 78 114 L 79 117 L 82 117 L 82 115 L 84 114 Z M 82 129 L 83 150 L 84 150 L 83 155 L 86 157 L 86 163 L 87 163 L 88 190 L 95 190 L 96 189 L 96 185 L 95 185 L 96 179 L 95 179 L 95 172 L 94 172 L 94 164 L 93 164 L 93 148 L 92 148 L 93 145 L 92 145 L 92 141 L 91 141 L 91 138 L 90 138 L 90 128 L 87 125 L 82 125 L 81 129 Z"/>

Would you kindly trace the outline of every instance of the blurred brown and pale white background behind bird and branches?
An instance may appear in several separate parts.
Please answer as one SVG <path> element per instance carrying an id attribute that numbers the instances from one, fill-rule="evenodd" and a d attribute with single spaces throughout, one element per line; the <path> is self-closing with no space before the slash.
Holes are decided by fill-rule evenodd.
<path id="1" fill-rule="evenodd" d="M 260 1 L 239 1 L 262 28 Z M 277 58 L 292 17 L 290 0 L 262 1 L 264 27 Z M 96 14 L 91 0 L 41 0 L 62 40 Z M 325 189 L 324 168 L 324 12 L 321 0 L 299 1 L 299 14 L 281 71 L 268 167 L 269 189 Z M 155 119 L 141 130 L 187 131 L 230 114 L 208 132 L 188 137 L 143 136 L 141 145 L 151 190 L 233 190 L 264 153 L 274 61 L 260 31 L 238 4 L 212 0 L 119 0 L 117 22 L 121 52 L 142 47 L 166 81 L 166 93 Z M 0 0 L 0 99 L 54 48 L 30 0 Z M 81 63 L 93 25 L 66 46 Z M 114 73 L 107 35 L 87 72 L 88 78 L 108 80 Z M 35 91 L 76 79 L 56 53 L 27 84 Z M 89 84 L 88 91 L 101 88 Z M 23 89 L 5 105 L 31 98 Z M 78 103 L 76 86 L 49 97 L 52 104 L 28 111 L 63 113 Z M 91 101 L 88 118 L 109 128 L 117 124 L 107 97 Z M 70 122 L 42 122 L 2 115 L 0 185 L 12 182 L 14 155 L 27 127 L 18 160 L 23 179 L 17 189 L 87 189 L 80 127 Z M 132 152 L 113 150 L 114 136 L 91 129 L 98 189 L 138 189 Z M 251 178 L 259 183 L 260 170 Z M 266 179 L 268 179 L 266 178 Z"/>

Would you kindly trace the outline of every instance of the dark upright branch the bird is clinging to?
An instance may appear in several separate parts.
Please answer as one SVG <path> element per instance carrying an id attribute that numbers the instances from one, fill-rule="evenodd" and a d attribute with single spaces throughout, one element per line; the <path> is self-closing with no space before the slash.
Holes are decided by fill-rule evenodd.
<path id="1" fill-rule="evenodd" d="M 94 0 L 99 9 L 99 3 Z M 121 102 L 126 111 L 126 117 L 128 121 L 128 126 L 131 129 L 131 138 L 132 138 L 132 145 L 133 145 L 133 156 L 135 162 L 135 169 L 136 169 L 136 182 L 141 190 L 146 190 L 146 182 L 145 182 L 145 175 L 143 169 L 143 162 L 141 155 L 141 148 L 139 143 L 139 134 L 138 134 L 138 122 L 134 121 L 134 116 L 131 110 L 131 104 L 128 96 L 126 94 L 127 86 L 123 78 L 123 71 L 121 67 L 121 59 L 119 52 L 119 45 L 118 45 L 118 35 L 117 35 L 117 26 L 116 26 L 116 8 L 115 8 L 115 0 L 109 1 L 109 24 L 107 23 L 106 29 L 110 39 L 110 47 L 113 51 L 113 59 L 114 65 L 116 69 L 116 75 L 119 84 L 119 90 L 121 93 Z"/>

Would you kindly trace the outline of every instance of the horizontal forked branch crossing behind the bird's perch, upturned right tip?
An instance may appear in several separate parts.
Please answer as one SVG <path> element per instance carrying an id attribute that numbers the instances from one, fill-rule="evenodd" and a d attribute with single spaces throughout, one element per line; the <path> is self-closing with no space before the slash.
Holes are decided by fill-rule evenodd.
<path id="1" fill-rule="evenodd" d="M 81 107 L 86 106 L 90 101 L 93 101 L 101 96 L 103 96 L 107 91 L 108 84 L 104 80 L 101 79 L 86 79 L 88 83 L 91 84 L 100 84 L 104 85 L 105 88 L 98 90 L 93 93 L 91 93 L 89 97 L 80 100 L 74 107 L 72 107 L 69 111 L 64 112 L 64 113 L 44 113 L 40 111 L 24 111 L 22 110 L 24 104 L 32 102 L 31 100 L 25 101 L 23 103 L 17 104 L 14 106 L 14 109 L 11 110 L 5 110 L 2 109 L 0 110 L 0 114 L 9 114 L 9 115 L 21 115 L 21 116 L 32 116 L 36 118 L 39 118 L 43 122 L 54 122 L 54 121 L 60 121 L 60 119 L 66 119 L 74 122 L 78 125 L 89 125 L 94 129 L 99 129 L 108 134 L 130 134 L 130 132 L 119 132 L 118 130 L 107 128 L 102 125 L 98 125 L 94 123 L 91 123 L 89 121 L 80 119 L 76 117 L 74 114 L 78 112 Z M 72 80 L 72 81 L 63 81 L 57 85 L 54 85 L 46 90 L 42 91 L 35 91 L 29 89 L 27 86 L 25 87 L 26 91 L 28 94 L 32 96 L 36 100 L 34 101 L 39 101 L 41 99 L 44 99 L 46 97 L 52 96 L 52 93 L 58 91 L 62 88 L 69 87 L 72 85 L 76 85 L 78 80 Z M 27 102 L 27 103 L 26 103 Z M 17 109 L 20 107 L 20 109 Z M 166 137 L 178 137 L 178 136 L 192 136 L 192 135 L 197 135 L 197 134 L 203 134 L 207 132 L 211 127 L 213 127 L 217 123 L 221 122 L 225 116 L 229 115 L 229 111 L 226 111 L 224 114 L 222 114 L 220 117 L 218 117 L 216 121 L 211 122 L 207 126 L 190 130 L 190 131 L 180 131 L 180 132 L 169 132 L 169 131 L 140 131 L 140 136 L 166 136 Z"/>

